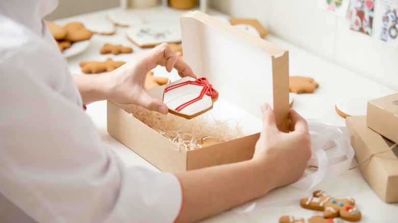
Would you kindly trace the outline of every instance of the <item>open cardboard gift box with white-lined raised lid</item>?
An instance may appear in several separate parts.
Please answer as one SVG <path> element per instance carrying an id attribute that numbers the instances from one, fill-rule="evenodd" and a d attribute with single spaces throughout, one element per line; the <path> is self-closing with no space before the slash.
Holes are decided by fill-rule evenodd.
<path id="1" fill-rule="evenodd" d="M 227 105 L 217 109 L 228 115 L 238 110 L 228 104 L 238 107 L 242 116 L 252 115 L 261 126 L 260 104 L 267 102 L 275 110 L 279 129 L 289 130 L 287 50 L 199 11 L 181 17 L 181 30 L 185 62 L 198 77 L 207 77 L 219 92 L 213 109 L 217 103 L 225 101 Z M 164 86 L 160 86 L 147 92 L 161 99 L 163 89 Z M 109 134 L 165 172 L 251 159 L 261 130 L 236 140 L 188 151 L 130 116 L 130 109 L 129 105 L 108 101 Z"/>

